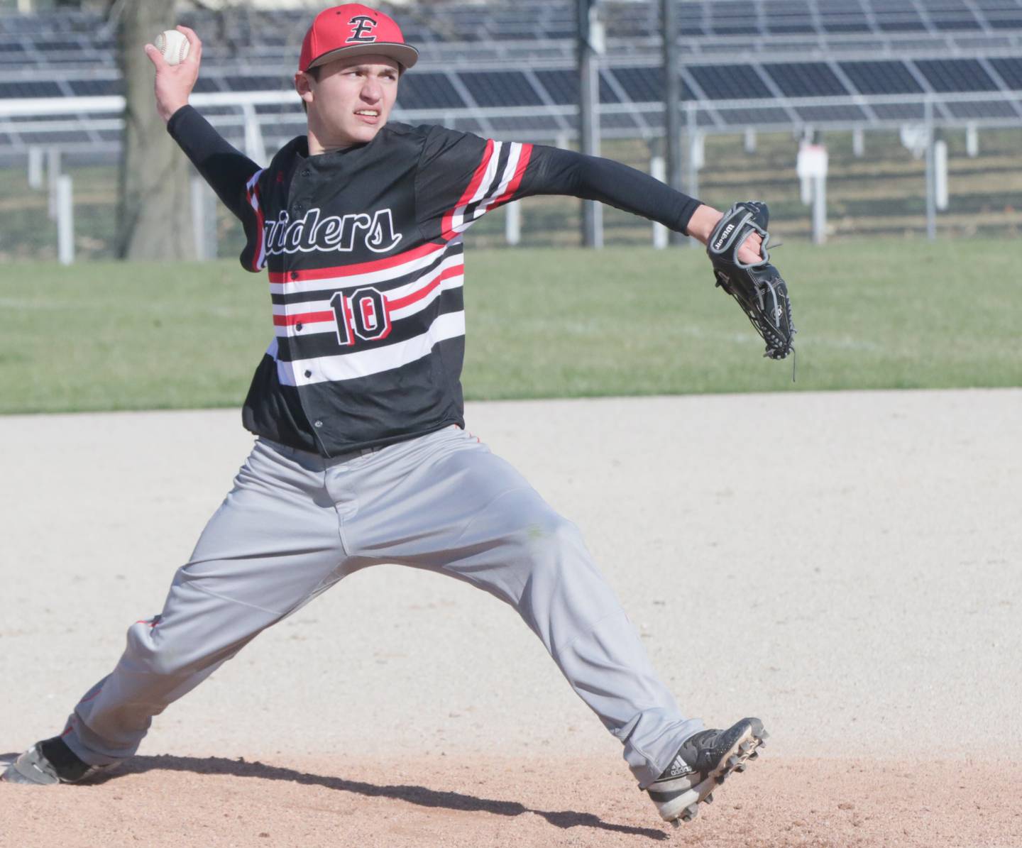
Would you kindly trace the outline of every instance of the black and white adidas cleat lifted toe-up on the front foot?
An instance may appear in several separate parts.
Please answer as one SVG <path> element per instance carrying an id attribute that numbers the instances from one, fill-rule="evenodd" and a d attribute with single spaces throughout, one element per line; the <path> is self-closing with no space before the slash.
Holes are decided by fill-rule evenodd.
<path id="1" fill-rule="evenodd" d="M 744 771 L 768 736 L 758 718 L 743 718 L 727 731 L 689 737 L 667 769 L 646 787 L 663 820 L 678 828 L 695 818 L 699 802 L 712 802 L 717 784 L 733 771 Z"/>

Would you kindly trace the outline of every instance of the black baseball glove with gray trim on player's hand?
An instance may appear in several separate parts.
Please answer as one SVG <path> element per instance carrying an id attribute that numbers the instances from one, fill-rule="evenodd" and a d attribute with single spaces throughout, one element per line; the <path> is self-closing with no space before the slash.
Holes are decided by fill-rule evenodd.
<path id="1" fill-rule="evenodd" d="M 713 228 L 706 252 L 713 263 L 716 284 L 734 297 L 766 342 L 764 357 L 783 360 L 793 349 L 795 327 L 791 323 L 791 299 L 778 270 L 770 264 L 766 224 L 770 211 L 765 203 L 747 200 L 735 203 Z M 758 263 L 743 263 L 738 248 L 751 233 L 762 238 Z"/>

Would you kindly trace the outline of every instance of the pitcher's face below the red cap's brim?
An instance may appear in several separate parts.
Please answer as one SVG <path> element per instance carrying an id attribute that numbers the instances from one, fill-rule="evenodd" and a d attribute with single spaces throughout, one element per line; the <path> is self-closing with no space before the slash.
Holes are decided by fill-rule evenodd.
<path id="1" fill-rule="evenodd" d="M 400 65 L 386 56 L 367 54 L 337 59 L 308 75 L 309 126 L 327 148 L 372 141 L 386 124 L 398 97 Z"/>

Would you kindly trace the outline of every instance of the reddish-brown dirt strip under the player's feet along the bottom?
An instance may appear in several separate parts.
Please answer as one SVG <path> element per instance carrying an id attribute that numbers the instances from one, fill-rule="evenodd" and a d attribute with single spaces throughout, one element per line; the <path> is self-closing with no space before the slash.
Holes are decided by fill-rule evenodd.
<path id="1" fill-rule="evenodd" d="M 0 788 L 0 840 L 75 848 L 1022 844 L 1017 767 L 763 759 L 673 830 L 651 818 L 616 766 L 606 758 L 142 756 L 93 787 Z"/>

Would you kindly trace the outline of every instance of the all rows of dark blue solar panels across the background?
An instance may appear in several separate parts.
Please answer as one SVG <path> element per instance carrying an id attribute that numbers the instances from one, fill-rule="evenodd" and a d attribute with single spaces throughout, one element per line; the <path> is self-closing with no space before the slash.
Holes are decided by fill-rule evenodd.
<path id="1" fill-rule="evenodd" d="M 573 136 L 573 3 L 396 14 L 422 51 L 396 120 L 522 140 Z M 602 15 L 603 134 L 659 136 L 659 3 L 608 2 Z M 237 143 L 245 120 L 268 147 L 303 131 L 291 77 L 308 18 L 293 10 L 186 17 L 203 37 L 196 99 Z M 938 124 L 1022 124 L 1022 0 L 699 0 L 680 3 L 679 18 L 685 120 L 702 132 L 897 126 L 927 109 Z M 0 15 L 0 160 L 41 144 L 115 154 L 121 90 L 109 21 Z M 37 113 L 12 115 L 15 102 Z"/>

